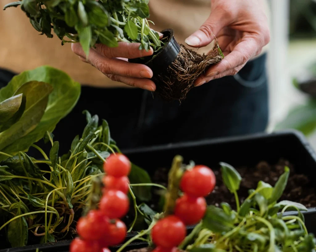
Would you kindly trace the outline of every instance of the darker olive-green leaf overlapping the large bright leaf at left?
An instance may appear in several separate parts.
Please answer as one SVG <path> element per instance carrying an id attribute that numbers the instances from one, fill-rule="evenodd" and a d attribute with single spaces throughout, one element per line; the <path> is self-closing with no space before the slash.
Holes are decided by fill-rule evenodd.
<path id="1" fill-rule="evenodd" d="M 25 110 L 17 123 L 0 133 L 0 150 L 3 150 L 15 141 L 19 141 L 35 129 L 44 115 L 48 103 L 48 95 L 51 92 L 52 86 L 50 84 L 38 81 L 27 82 L 16 90 L 15 94 L 23 93 L 26 96 Z M 41 135 L 41 138 L 43 135 Z M 3 152 L 12 153 L 8 150 Z"/>

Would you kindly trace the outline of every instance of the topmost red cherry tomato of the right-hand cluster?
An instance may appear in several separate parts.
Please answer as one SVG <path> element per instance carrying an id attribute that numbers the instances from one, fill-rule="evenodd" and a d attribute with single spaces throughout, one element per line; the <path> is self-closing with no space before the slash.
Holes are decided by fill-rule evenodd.
<path id="1" fill-rule="evenodd" d="M 214 172 L 204 165 L 197 165 L 185 171 L 180 188 L 191 197 L 204 197 L 213 191 L 215 184 Z"/>

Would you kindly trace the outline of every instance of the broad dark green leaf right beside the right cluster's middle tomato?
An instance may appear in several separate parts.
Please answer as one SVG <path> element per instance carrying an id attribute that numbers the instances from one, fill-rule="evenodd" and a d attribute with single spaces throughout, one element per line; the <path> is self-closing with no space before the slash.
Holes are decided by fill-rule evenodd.
<path id="1" fill-rule="evenodd" d="M 223 209 L 209 206 L 203 218 L 203 226 L 215 233 L 228 232 L 234 228 L 233 214 L 226 214 Z"/>

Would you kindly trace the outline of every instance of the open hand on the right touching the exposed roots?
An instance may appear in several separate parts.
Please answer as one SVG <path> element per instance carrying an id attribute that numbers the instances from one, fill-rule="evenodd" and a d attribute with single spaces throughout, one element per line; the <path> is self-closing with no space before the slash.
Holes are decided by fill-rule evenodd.
<path id="1" fill-rule="evenodd" d="M 264 0 L 211 0 L 211 14 L 200 29 L 185 40 L 191 47 L 204 47 L 215 37 L 225 58 L 195 81 L 200 86 L 213 79 L 237 74 L 246 62 L 260 54 L 270 41 Z"/>

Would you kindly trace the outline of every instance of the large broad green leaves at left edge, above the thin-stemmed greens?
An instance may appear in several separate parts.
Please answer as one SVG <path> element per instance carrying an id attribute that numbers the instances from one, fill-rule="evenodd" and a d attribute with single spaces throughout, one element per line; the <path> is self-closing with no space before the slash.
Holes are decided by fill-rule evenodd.
<path id="1" fill-rule="evenodd" d="M 49 66 L 13 77 L 0 89 L 0 151 L 10 155 L 27 151 L 46 131 L 55 129 L 79 95 L 79 83 Z M 0 161 L 5 158 L 0 154 Z"/>

